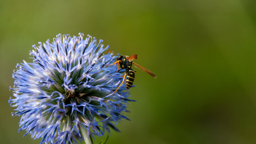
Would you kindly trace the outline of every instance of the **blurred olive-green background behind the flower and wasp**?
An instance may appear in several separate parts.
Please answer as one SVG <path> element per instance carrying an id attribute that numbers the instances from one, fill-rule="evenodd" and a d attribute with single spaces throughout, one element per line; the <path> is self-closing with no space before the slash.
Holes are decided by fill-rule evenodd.
<path id="1" fill-rule="evenodd" d="M 12 70 L 58 33 L 103 39 L 138 54 L 127 113 L 109 144 L 256 143 L 255 0 L 1 0 L 0 141 L 35 144 L 18 133 L 8 99 Z M 97 139 L 99 142 L 100 139 Z"/>

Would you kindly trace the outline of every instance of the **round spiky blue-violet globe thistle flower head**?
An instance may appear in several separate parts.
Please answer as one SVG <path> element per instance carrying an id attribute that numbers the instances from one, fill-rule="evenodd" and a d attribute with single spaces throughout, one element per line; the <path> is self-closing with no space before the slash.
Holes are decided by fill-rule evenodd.
<path id="1" fill-rule="evenodd" d="M 102 40 L 83 36 L 58 34 L 52 43 L 33 45 L 33 62 L 23 60 L 12 75 L 12 115 L 21 116 L 19 131 L 41 143 L 91 143 L 110 128 L 119 132 L 117 122 L 128 119 L 123 112 L 132 100 L 125 85 L 113 94 L 124 70 L 106 66 L 116 56 L 104 54 L 109 46 L 103 48 Z"/>

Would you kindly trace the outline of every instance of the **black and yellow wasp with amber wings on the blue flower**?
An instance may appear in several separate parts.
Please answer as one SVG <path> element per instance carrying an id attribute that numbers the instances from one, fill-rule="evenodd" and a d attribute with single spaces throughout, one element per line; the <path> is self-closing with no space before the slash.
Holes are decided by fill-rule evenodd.
<path id="1" fill-rule="evenodd" d="M 110 52 L 110 51 L 107 51 Z M 113 53 L 113 52 L 110 52 Z M 115 53 L 113 53 L 115 54 Z M 116 54 L 117 55 L 117 54 Z M 135 67 L 137 67 L 138 69 L 150 74 L 153 78 L 156 78 L 156 75 L 154 73 L 152 73 L 150 70 L 144 68 L 143 66 L 138 65 L 137 63 L 134 63 L 133 60 L 134 59 L 138 59 L 138 55 L 137 54 L 133 54 L 132 56 L 123 56 L 123 55 L 118 55 L 116 62 L 114 62 L 111 65 L 115 65 L 117 64 L 117 71 L 119 69 L 119 65 L 121 69 L 125 69 L 125 73 L 123 76 L 123 81 L 122 83 L 119 85 L 119 87 L 116 89 L 116 91 L 113 92 L 116 93 L 117 90 L 120 88 L 120 86 L 124 83 L 124 80 L 126 78 L 126 89 L 128 90 L 132 85 L 133 85 L 133 81 L 135 79 L 135 73 L 136 71 L 134 71 L 132 69 L 132 64 L 135 65 Z M 106 65 L 106 66 L 110 66 L 110 65 Z"/>

